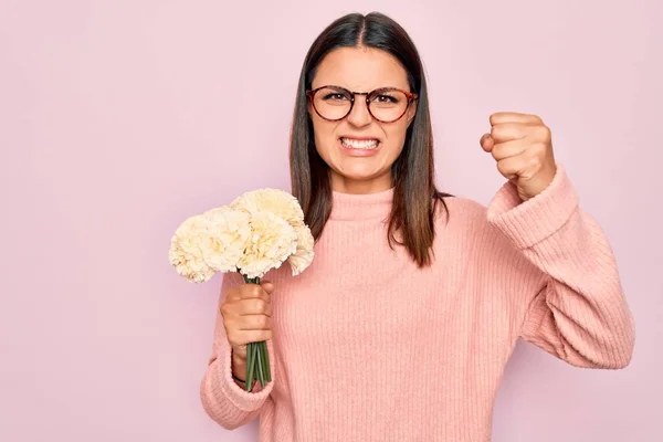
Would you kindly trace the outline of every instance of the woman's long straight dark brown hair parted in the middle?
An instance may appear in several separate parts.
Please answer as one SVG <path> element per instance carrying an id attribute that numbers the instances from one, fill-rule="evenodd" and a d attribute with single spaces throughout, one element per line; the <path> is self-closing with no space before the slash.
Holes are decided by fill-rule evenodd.
<path id="1" fill-rule="evenodd" d="M 313 42 L 299 74 L 291 133 L 290 162 L 292 192 L 299 200 L 305 221 L 317 240 L 332 212 L 329 167 L 315 148 L 313 123 L 307 112 L 317 66 L 325 55 L 339 48 L 375 48 L 394 56 L 408 73 L 410 91 L 419 95 L 414 119 L 408 128 L 403 150 L 391 167 L 393 203 L 388 241 L 403 245 L 421 266 L 432 262 L 434 215 L 446 193 L 434 185 L 433 137 L 425 77 L 419 52 L 404 29 L 389 17 L 371 12 L 351 13 L 335 20 Z M 399 233 L 400 239 L 396 238 Z"/>

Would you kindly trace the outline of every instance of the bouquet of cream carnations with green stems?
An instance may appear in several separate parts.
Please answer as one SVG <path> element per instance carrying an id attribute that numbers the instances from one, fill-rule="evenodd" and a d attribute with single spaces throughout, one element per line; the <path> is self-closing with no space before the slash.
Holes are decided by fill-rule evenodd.
<path id="1" fill-rule="evenodd" d="M 284 262 L 298 275 L 314 256 L 314 239 L 304 212 L 292 194 L 277 189 L 246 192 L 228 206 L 188 218 L 170 240 L 170 264 L 193 283 L 209 281 L 217 272 L 240 272 L 246 283 Z M 264 341 L 246 346 L 246 391 L 257 379 L 271 381 Z"/>

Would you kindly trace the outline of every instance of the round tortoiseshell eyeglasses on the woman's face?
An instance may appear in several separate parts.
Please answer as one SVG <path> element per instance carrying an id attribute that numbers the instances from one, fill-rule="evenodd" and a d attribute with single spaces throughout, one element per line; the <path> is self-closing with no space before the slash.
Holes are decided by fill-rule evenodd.
<path id="1" fill-rule="evenodd" d="M 368 113 L 380 123 L 399 120 L 417 94 L 399 90 L 398 87 L 380 87 L 371 92 L 350 92 L 340 86 L 320 86 L 306 91 L 313 108 L 320 118 L 328 122 L 338 122 L 350 114 L 355 106 L 355 97 L 366 95 Z"/>

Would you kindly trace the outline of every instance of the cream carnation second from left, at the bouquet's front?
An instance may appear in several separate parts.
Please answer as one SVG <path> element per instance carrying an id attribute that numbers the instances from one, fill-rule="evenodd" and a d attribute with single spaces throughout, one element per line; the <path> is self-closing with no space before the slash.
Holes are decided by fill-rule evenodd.
<path id="1" fill-rule="evenodd" d="M 207 263 L 217 272 L 235 272 L 251 235 L 251 215 L 223 206 L 208 210 L 204 217 L 210 221 L 203 251 Z"/>

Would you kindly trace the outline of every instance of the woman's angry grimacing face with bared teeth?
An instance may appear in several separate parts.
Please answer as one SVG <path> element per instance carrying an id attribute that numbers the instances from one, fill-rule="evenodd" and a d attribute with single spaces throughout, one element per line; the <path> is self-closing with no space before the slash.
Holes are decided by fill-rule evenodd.
<path id="1" fill-rule="evenodd" d="M 413 92 L 408 85 L 406 70 L 392 55 L 366 48 L 341 48 L 327 54 L 318 65 L 312 88 L 327 85 L 364 93 L 381 87 Z M 380 115 L 380 119 L 389 119 L 383 116 L 389 115 L 389 107 L 399 106 L 397 99 L 407 101 L 398 93 L 376 96 L 371 99 L 376 102 L 371 109 Z M 326 106 L 328 113 L 340 112 L 337 115 L 343 112 L 336 109 L 349 105 L 343 94 L 330 94 L 329 91 L 316 94 L 315 103 L 318 110 Z M 332 189 L 345 193 L 371 193 L 391 187 L 391 165 L 403 149 L 408 126 L 414 117 L 414 103 L 404 112 L 393 123 L 381 123 L 369 113 L 366 95 L 357 95 L 345 118 L 329 122 L 316 113 L 309 101 L 315 146 L 330 168 Z"/>

